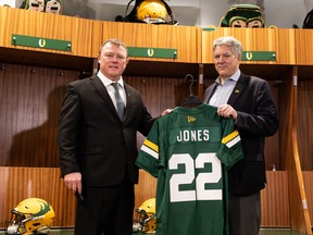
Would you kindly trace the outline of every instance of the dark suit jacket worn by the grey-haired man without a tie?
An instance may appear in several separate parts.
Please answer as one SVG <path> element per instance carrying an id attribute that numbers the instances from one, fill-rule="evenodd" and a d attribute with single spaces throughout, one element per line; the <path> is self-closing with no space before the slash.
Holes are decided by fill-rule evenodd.
<path id="1" fill-rule="evenodd" d="M 204 94 L 208 102 L 216 87 Z M 278 129 L 277 110 L 266 81 L 241 73 L 228 100 L 238 113 L 236 126 L 241 137 L 243 159 L 229 171 L 229 191 L 249 195 L 265 187 L 265 137 Z"/>

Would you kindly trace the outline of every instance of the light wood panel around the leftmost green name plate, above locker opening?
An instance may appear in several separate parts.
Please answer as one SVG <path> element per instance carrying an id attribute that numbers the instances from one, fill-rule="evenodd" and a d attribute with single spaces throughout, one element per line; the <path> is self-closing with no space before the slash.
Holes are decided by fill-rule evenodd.
<path id="1" fill-rule="evenodd" d="M 91 20 L 0 7 L 0 46 L 61 54 L 91 57 Z M 72 51 L 14 47 L 12 34 L 72 41 Z"/>

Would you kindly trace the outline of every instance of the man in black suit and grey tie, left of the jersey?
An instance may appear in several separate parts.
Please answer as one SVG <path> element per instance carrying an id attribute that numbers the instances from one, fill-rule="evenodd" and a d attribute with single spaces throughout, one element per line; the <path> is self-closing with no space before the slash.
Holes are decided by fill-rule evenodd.
<path id="1" fill-rule="evenodd" d="M 59 121 L 61 174 L 78 198 L 76 235 L 130 235 L 138 183 L 136 135 L 147 136 L 154 119 L 139 91 L 123 81 L 126 46 L 105 41 L 98 62 L 97 75 L 66 88 Z"/>

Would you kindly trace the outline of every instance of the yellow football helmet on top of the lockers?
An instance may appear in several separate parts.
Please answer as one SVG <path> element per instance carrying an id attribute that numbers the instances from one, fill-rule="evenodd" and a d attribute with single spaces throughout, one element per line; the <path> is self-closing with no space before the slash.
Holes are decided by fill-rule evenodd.
<path id="1" fill-rule="evenodd" d="M 146 23 L 165 23 L 166 7 L 161 0 L 145 0 L 137 9 L 137 18 Z"/>

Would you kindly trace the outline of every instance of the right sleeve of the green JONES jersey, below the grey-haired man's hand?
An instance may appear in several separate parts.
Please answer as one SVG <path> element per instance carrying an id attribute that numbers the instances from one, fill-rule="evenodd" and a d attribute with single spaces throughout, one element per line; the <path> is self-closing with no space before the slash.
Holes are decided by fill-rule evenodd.
<path id="1" fill-rule="evenodd" d="M 230 169 L 236 162 L 243 158 L 241 138 L 235 127 L 235 122 L 233 121 L 233 119 L 223 120 L 222 126 L 223 138 L 216 156 L 227 169 Z"/>

